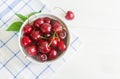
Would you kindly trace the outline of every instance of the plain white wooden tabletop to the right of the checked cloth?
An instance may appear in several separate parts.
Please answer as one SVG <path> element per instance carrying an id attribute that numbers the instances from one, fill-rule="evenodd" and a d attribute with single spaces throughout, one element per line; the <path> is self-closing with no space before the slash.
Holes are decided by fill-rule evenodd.
<path id="1" fill-rule="evenodd" d="M 54 79 L 120 79 L 120 0 L 44 0 L 75 12 L 71 28 L 84 47 Z"/>

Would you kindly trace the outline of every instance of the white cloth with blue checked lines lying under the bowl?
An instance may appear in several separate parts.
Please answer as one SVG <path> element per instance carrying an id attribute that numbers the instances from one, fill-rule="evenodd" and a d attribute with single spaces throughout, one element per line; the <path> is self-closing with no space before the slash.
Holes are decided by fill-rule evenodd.
<path id="1" fill-rule="evenodd" d="M 70 30 L 70 47 L 63 57 L 50 64 L 35 64 L 21 53 L 18 33 L 5 31 L 18 19 L 15 13 L 26 15 L 45 8 L 45 4 L 40 0 L 0 0 L 0 79 L 50 79 L 74 53 L 77 53 L 80 39 Z"/>

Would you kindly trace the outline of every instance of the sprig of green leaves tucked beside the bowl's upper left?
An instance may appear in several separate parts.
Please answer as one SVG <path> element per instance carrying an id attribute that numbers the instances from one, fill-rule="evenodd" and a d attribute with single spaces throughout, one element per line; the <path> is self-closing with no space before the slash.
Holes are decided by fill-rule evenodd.
<path id="1" fill-rule="evenodd" d="M 6 31 L 16 31 L 16 32 L 19 32 L 22 24 L 32 15 L 34 14 L 37 14 L 37 13 L 41 13 L 41 11 L 38 11 L 38 12 L 31 12 L 30 14 L 28 14 L 27 16 L 24 16 L 22 14 L 15 14 L 17 17 L 20 18 L 20 21 L 16 21 L 16 22 L 13 22 L 9 27 L 8 29 L 6 29 Z"/>

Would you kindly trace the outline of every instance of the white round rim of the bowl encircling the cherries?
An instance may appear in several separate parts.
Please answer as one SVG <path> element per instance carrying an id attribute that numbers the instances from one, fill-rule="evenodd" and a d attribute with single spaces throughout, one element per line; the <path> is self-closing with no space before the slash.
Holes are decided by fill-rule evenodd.
<path id="1" fill-rule="evenodd" d="M 25 51 L 21 45 L 21 37 L 22 37 L 22 29 L 23 27 L 28 23 L 28 21 L 30 22 L 33 22 L 35 19 L 38 19 L 40 18 L 40 16 L 42 17 L 51 17 L 51 18 L 54 18 L 54 19 L 57 19 L 59 20 L 60 22 L 62 22 L 62 24 L 65 25 L 65 28 L 67 29 L 67 33 L 68 33 L 68 37 L 67 37 L 67 49 L 60 55 L 58 56 L 56 59 L 54 60 L 50 60 L 50 61 L 45 61 L 45 62 L 40 62 L 40 61 L 37 61 L 35 60 L 34 58 L 30 57 L 30 56 L 27 56 L 27 54 L 25 54 Z M 33 19 L 34 18 L 34 19 Z M 31 23 L 30 22 L 30 23 Z M 38 13 L 38 14 L 35 14 L 35 15 L 32 15 L 31 17 L 29 17 L 21 26 L 20 28 L 20 31 L 19 31 L 19 35 L 18 35 L 18 42 L 19 42 L 19 47 L 20 47 L 20 51 L 22 52 L 22 54 L 24 55 L 24 57 L 26 59 L 28 59 L 29 61 L 33 62 L 33 63 L 37 63 L 37 64 L 44 64 L 44 63 L 52 63 L 53 61 L 57 61 L 58 59 L 60 59 L 66 52 L 67 50 L 69 49 L 69 46 L 70 46 L 70 32 L 69 32 L 69 28 L 68 28 L 68 25 L 67 23 L 59 16 L 55 15 L 55 14 L 52 14 L 52 13 Z"/>

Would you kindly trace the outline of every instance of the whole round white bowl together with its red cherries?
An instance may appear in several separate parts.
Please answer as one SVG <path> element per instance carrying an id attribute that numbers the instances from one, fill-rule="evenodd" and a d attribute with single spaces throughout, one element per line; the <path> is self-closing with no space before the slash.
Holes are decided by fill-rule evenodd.
<path id="1" fill-rule="evenodd" d="M 20 50 L 32 62 L 55 61 L 69 47 L 67 25 L 53 14 L 39 13 L 29 17 L 20 28 L 19 34 Z"/>

